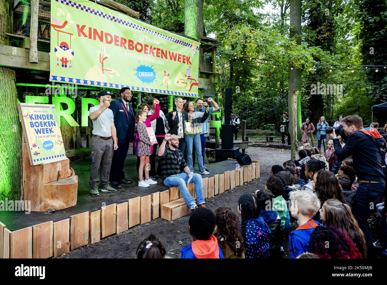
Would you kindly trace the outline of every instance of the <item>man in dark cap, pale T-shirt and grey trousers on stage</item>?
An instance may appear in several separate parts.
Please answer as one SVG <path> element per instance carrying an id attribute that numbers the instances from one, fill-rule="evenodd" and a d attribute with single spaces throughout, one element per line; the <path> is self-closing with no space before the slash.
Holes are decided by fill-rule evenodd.
<path id="1" fill-rule="evenodd" d="M 101 165 L 101 191 L 116 192 L 109 185 L 109 173 L 113 149 L 118 149 L 116 128 L 114 126 L 113 112 L 108 109 L 113 94 L 109 90 L 98 93 L 99 104 L 89 110 L 90 119 L 93 123 L 93 136 L 91 138 L 91 171 L 90 171 L 90 194 L 99 196 L 98 192 L 98 169 Z M 113 138 L 113 140 L 112 140 Z"/>

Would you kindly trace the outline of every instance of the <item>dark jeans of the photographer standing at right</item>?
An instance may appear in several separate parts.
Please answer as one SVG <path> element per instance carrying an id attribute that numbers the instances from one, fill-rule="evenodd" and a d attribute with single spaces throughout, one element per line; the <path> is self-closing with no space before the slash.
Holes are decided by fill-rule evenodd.
<path id="1" fill-rule="evenodd" d="M 364 233 L 368 249 L 367 257 L 375 257 L 367 219 L 375 211 L 375 206 L 379 202 L 378 199 L 383 194 L 384 189 L 384 183 L 359 183 L 358 190 L 356 190 L 353 199 L 352 212 Z"/>

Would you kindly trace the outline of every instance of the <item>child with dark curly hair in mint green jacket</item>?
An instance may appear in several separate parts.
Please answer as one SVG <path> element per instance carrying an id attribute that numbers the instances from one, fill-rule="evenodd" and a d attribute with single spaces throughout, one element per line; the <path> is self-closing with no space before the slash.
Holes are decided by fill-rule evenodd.
<path id="1" fill-rule="evenodd" d="M 273 194 L 274 201 L 272 209 L 277 212 L 279 218 L 281 218 L 281 224 L 285 230 L 290 229 L 290 216 L 288 206 L 283 197 L 284 180 L 281 175 L 272 175 L 267 179 L 265 189 L 270 190 Z M 259 192 L 258 192 L 259 193 Z"/>

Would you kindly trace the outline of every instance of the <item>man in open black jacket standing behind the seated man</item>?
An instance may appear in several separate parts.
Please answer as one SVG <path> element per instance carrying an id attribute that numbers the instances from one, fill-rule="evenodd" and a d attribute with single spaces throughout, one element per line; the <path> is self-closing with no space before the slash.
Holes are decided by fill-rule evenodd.
<path id="1" fill-rule="evenodd" d="M 168 133 L 177 135 L 180 138 L 179 149 L 184 154 L 185 150 L 185 122 L 188 122 L 188 114 L 183 110 L 183 99 L 175 99 L 176 108 L 168 113 Z"/>

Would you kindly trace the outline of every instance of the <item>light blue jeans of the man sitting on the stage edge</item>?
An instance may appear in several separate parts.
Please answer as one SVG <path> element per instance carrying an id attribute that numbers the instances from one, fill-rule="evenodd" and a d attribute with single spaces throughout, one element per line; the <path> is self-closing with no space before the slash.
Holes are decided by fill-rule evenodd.
<path id="1" fill-rule="evenodd" d="M 195 204 L 194 198 L 192 198 L 190 192 L 188 191 L 187 182 L 188 182 L 188 174 L 185 172 L 182 172 L 165 178 L 164 185 L 168 187 L 178 186 L 179 191 L 180 193 L 182 193 L 182 196 L 184 198 L 185 204 L 187 204 L 188 208 L 194 209 L 197 205 Z M 198 205 L 204 204 L 202 176 L 198 173 L 194 173 L 194 176 L 192 176 L 192 179 L 190 182 L 195 183 L 195 193 L 196 193 L 197 204 Z"/>

